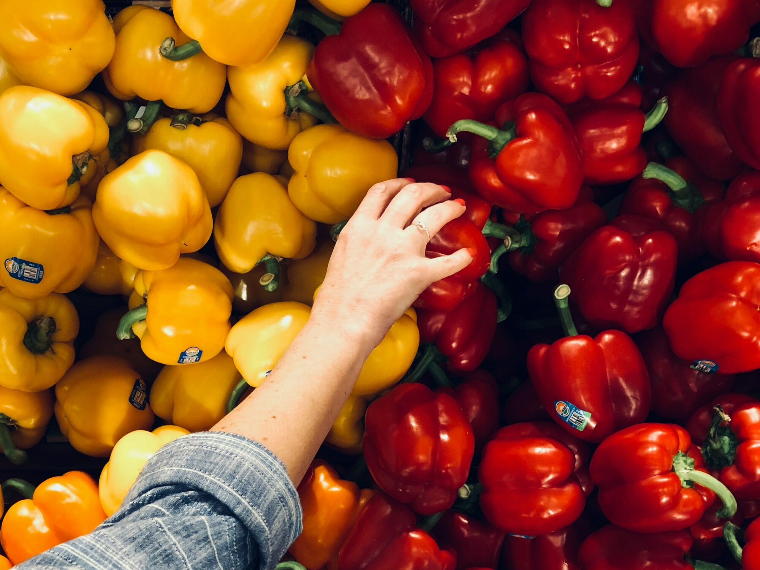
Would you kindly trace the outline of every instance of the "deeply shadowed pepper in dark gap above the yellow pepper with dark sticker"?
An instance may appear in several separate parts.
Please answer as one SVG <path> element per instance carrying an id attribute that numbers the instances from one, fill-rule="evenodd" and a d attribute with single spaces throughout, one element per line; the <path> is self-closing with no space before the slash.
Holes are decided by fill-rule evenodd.
<path id="1" fill-rule="evenodd" d="M 124 316 L 127 309 L 111 309 L 110 311 L 100 313 L 95 321 L 95 330 L 90 340 L 84 343 L 84 346 L 78 353 L 79 359 L 90 358 L 90 356 L 119 356 L 125 359 L 132 369 L 135 369 L 145 384 L 150 386 L 163 366 L 160 363 L 151 360 L 140 347 L 140 339 L 128 338 L 119 340 L 116 336 L 116 329 L 119 328 L 119 321 Z"/>

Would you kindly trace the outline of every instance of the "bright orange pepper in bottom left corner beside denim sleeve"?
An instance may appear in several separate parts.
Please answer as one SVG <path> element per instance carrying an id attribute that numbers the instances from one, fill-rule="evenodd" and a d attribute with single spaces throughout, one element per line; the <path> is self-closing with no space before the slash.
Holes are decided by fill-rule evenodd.
<path id="1" fill-rule="evenodd" d="M 14 564 L 89 534 L 106 520 L 97 484 L 81 471 L 51 477 L 36 489 L 26 481 L 9 479 L 2 489 L 24 497 L 8 508 L 0 526 L 0 543 Z"/>

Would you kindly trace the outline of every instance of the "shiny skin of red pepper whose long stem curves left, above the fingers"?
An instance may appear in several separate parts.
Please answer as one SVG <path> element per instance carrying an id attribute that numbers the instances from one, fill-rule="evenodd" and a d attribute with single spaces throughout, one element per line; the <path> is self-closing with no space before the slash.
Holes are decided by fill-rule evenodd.
<path id="1" fill-rule="evenodd" d="M 521 214 L 563 210 L 578 199 L 583 166 L 578 141 L 562 108 L 540 93 L 525 93 L 496 109 L 496 125 L 514 122 L 517 138 L 496 159 L 489 141 L 475 137 L 473 188 L 499 207 Z"/>

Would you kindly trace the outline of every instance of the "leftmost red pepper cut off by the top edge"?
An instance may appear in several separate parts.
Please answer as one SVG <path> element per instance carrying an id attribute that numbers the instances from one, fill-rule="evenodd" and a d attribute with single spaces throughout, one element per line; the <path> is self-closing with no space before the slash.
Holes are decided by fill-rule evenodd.
<path id="1" fill-rule="evenodd" d="M 431 57 L 464 52 L 495 36 L 530 0 L 410 0 L 414 30 Z"/>

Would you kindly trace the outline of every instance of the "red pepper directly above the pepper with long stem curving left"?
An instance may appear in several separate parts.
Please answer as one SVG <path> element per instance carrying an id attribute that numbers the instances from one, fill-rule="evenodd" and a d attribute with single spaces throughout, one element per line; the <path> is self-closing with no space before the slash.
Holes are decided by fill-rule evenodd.
<path id="1" fill-rule="evenodd" d="M 488 121 L 505 100 L 527 90 L 527 57 L 513 30 L 463 53 L 433 60 L 435 89 L 423 116 L 439 137 L 460 119 Z"/>

